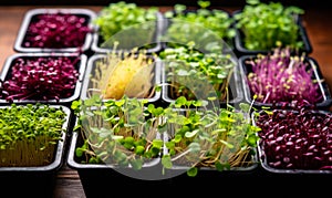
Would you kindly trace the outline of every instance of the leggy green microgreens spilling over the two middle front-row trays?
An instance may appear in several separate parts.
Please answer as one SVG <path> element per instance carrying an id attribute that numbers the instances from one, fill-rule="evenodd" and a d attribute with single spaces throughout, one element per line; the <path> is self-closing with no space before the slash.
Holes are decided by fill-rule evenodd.
<path id="1" fill-rule="evenodd" d="M 255 163 L 252 148 L 260 128 L 250 122 L 252 106 L 239 106 L 209 110 L 206 101 L 180 96 L 162 107 L 126 95 L 104 102 L 94 95 L 72 104 L 79 116 L 75 129 L 81 129 L 84 139 L 75 155 L 83 163 L 110 163 L 137 170 L 146 159 L 160 157 L 163 171 L 174 164 L 186 165 L 188 176 L 196 176 L 199 167 L 220 171 L 247 167 Z M 165 148 L 167 153 L 162 152 Z"/>

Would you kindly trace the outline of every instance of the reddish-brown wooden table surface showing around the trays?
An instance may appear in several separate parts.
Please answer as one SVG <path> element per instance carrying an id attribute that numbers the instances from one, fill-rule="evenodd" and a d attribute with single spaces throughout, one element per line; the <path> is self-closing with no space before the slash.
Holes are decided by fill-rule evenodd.
<path id="1" fill-rule="evenodd" d="M 18 30 L 23 20 L 24 13 L 33 8 L 32 6 L 12 6 L 0 7 L 0 70 L 4 61 L 11 54 L 14 54 L 13 43 L 18 34 Z M 54 8 L 54 7 L 42 7 Z M 59 6 L 56 8 L 60 8 Z M 100 11 L 102 7 L 76 6 L 61 8 L 87 8 L 93 11 Z M 160 11 L 170 9 L 163 7 Z M 238 8 L 222 8 L 228 11 Z M 332 87 L 332 12 L 326 8 L 307 8 L 303 14 L 303 24 L 307 29 L 313 52 L 311 58 L 315 59 L 320 65 L 323 77 L 329 87 Z M 65 164 L 59 171 L 53 192 L 54 198 L 84 198 L 83 187 L 77 173 L 69 168 Z"/>

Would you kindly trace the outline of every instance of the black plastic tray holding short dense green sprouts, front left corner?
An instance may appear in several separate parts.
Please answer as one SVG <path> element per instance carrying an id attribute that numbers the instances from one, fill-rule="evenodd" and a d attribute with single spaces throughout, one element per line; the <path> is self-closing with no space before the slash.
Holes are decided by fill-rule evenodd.
<path id="1" fill-rule="evenodd" d="M 9 197 L 52 197 L 56 174 L 65 163 L 65 147 L 72 114 L 69 107 L 63 105 L 50 105 L 62 107 L 66 117 L 63 124 L 65 132 L 62 139 L 58 142 L 54 159 L 51 164 L 38 167 L 0 167 L 0 185 L 3 194 Z M 8 106 L 0 106 L 0 108 Z"/>

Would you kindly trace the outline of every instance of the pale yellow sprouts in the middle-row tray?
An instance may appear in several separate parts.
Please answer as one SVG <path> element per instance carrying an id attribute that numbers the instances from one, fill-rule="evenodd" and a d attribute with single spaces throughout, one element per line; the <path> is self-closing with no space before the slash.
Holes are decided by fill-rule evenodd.
<path id="1" fill-rule="evenodd" d="M 138 49 L 131 53 L 116 53 L 117 42 L 114 49 L 104 59 L 96 61 L 95 75 L 91 77 L 93 83 L 90 91 L 98 92 L 105 100 L 120 100 L 124 95 L 129 97 L 149 98 L 154 90 L 154 66 L 152 56 L 147 56 Z M 91 92 L 90 92 L 91 93 Z"/>

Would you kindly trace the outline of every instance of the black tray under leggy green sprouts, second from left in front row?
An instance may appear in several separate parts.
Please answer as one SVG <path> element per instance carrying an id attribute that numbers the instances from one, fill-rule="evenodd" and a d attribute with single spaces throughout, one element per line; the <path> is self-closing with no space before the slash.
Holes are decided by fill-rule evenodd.
<path id="1" fill-rule="evenodd" d="M 111 184 L 111 191 L 115 190 L 115 195 L 120 194 L 116 190 L 123 186 L 128 187 L 125 192 L 127 195 L 135 195 L 142 188 L 158 187 L 160 181 L 156 180 L 155 177 L 158 178 L 157 175 L 162 174 L 158 166 L 159 157 L 145 161 L 139 170 L 134 170 L 131 167 L 121 168 L 112 164 L 82 163 L 84 159 L 75 154 L 75 149 L 82 146 L 84 142 L 82 133 L 73 132 L 66 164 L 70 168 L 77 170 L 86 197 L 104 197 L 107 192 L 103 189 L 108 189 Z"/>

